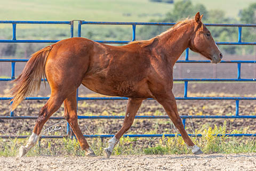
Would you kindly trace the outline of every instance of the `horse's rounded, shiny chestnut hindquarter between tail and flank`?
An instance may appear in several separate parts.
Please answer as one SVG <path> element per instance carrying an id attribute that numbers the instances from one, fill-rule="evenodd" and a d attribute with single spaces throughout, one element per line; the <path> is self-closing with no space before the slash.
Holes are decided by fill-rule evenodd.
<path id="1" fill-rule="evenodd" d="M 45 63 L 45 74 L 50 87 L 60 91 L 79 87 L 88 70 L 93 41 L 69 38 L 52 45 Z"/>

